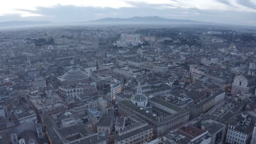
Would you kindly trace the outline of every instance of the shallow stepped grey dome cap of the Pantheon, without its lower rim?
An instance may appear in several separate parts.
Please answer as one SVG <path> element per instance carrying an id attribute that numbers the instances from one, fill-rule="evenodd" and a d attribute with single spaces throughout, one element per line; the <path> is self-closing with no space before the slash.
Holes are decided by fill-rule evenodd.
<path id="1" fill-rule="evenodd" d="M 87 79 L 88 75 L 79 69 L 71 69 L 66 74 L 61 76 L 62 80 L 66 81 L 80 81 Z"/>

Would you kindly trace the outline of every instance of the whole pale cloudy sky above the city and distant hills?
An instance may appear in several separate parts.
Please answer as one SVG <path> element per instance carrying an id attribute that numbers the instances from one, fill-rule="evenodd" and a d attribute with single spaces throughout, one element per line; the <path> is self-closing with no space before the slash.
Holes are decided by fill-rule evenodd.
<path id="1" fill-rule="evenodd" d="M 256 26 L 256 0 L 6 0 L 0 21 L 90 21 L 160 16 Z"/>

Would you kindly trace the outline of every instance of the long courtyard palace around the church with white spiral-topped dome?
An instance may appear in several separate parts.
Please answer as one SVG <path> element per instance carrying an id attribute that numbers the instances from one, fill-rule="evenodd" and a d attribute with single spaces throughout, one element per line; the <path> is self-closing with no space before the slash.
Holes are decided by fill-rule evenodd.
<path id="1" fill-rule="evenodd" d="M 130 101 L 118 103 L 119 115 L 135 115 L 152 125 L 154 136 L 160 136 L 189 121 L 189 111 L 158 98 L 148 100 L 150 108 L 139 107 Z"/>

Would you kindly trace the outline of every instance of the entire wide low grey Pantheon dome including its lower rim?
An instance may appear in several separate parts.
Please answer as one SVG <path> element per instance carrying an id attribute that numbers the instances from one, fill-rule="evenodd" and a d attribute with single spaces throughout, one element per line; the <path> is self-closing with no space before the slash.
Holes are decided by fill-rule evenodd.
<path id="1" fill-rule="evenodd" d="M 84 73 L 82 70 L 77 69 L 76 67 L 73 67 L 71 70 L 67 71 L 66 74 L 57 77 L 61 82 L 86 82 L 89 79 L 89 76 Z"/>

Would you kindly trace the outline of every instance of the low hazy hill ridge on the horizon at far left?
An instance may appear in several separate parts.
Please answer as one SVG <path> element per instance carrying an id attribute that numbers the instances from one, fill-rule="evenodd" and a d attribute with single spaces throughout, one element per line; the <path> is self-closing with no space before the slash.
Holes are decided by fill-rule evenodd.
<path id="1" fill-rule="evenodd" d="M 37 26 L 51 24 L 50 21 L 6 21 L 0 22 L 0 27 Z"/>

